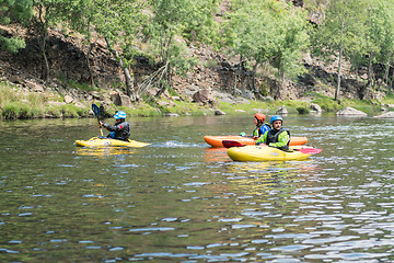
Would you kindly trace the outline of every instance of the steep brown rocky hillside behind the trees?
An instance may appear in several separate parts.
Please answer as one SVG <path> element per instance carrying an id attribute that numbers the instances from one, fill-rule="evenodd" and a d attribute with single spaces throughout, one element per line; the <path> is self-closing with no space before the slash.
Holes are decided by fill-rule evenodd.
<path id="1" fill-rule="evenodd" d="M 228 10 L 228 1 L 223 1 L 218 19 Z M 299 3 L 302 4 L 302 3 Z M 103 39 L 97 39 L 88 57 L 88 46 L 79 37 L 66 36 L 60 30 L 50 31 L 47 41 L 47 57 L 50 68 L 48 81 L 43 79 L 43 59 L 39 55 L 37 39 L 26 30 L 18 25 L 1 27 L 4 34 L 23 36 L 26 47 L 18 54 L 0 50 L 0 80 L 20 87 L 24 92 L 55 92 L 63 98 L 65 103 L 79 107 L 89 107 L 92 101 L 106 105 L 115 103 L 134 107 L 136 101 L 126 98 L 124 90 L 124 75 L 119 62 L 107 50 Z M 279 83 L 269 69 L 258 72 L 256 88 L 251 84 L 251 72 L 243 71 L 236 76 L 240 68 L 237 58 L 228 57 L 223 52 L 215 52 L 209 46 L 188 45 L 188 55 L 198 59 L 196 66 L 186 76 L 172 77 L 172 94 L 163 94 L 165 100 L 196 101 L 195 94 L 201 90 L 208 91 L 208 99 L 198 100 L 201 104 L 213 106 L 212 92 L 229 93 L 247 100 L 299 100 L 311 101 L 311 94 L 334 96 L 336 87 L 336 62 L 324 65 L 318 58 L 304 55 L 303 64 L 309 72 L 297 81 L 285 80 Z M 89 61 L 89 62 L 88 62 Z M 141 82 L 158 69 L 154 61 L 146 57 L 137 57 L 131 66 L 135 77 L 135 90 Z M 366 70 L 364 70 L 366 71 Z M 381 99 L 384 93 L 379 91 L 366 92 L 363 85 L 351 78 L 349 66 L 343 68 L 340 98 L 348 99 Z M 366 76 L 361 70 L 361 77 Z M 93 79 L 91 79 L 91 77 Z M 236 79 L 236 90 L 235 87 Z M 90 85 L 94 82 L 94 89 Z M 154 96 L 157 89 L 140 96 Z M 117 93 L 117 94 L 114 94 Z M 174 94 L 176 93 L 176 94 Z M 367 94 L 367 95 L 366 95 Z M 204 95 L 202 95 L 204 96 Z M 139 98 L 141 101 L 142 98 Z M 205 101 L 204 101 L 205 100 Z M 157 102 L 160 99 L 155 99 Z M 162 104 L 165 105 L 165 104 Z"/>

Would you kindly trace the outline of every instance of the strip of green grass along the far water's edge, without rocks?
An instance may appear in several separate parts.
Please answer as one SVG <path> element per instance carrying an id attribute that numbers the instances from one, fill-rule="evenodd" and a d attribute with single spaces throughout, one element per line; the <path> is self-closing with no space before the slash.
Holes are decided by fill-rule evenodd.
<path id="1" fill-rule="evenodd" d="M 0 82 L 0 118 L 44 118 L 44 117 L 88 117 L 90 105 L 78 107 L 62 103 L 63 98 L 56 93 L 22 92 L 16 87 Z M 151 101 L 135 104 L 135 108 L 111 105 L 105 108 L 108 116 L 116 111 L 123 110 L 128 116 L 162 116 L 169 114 L 178 115 L 213 115 L 215 111 L 208 106 L 184 101 L 162 101 L 164 105 Z M 382 104 L 394 104 L 394 94 L 390 93 L 383 101 L 360 101 L 343 99 L 340 103 L 332 98 L 320 94 L 311 94 L 311 103 L 318 104 L 324 112 L 337 112 L 346 106 L 351 106 L 368 114 L 379 112 Z M 273 114 L 278 107 L 285 105 L 289 113 L 308 114 L 311 103 L 301 101 L 251 101 L 250 103 L 224 103 L 219 102 L 217 107 L 227 114 L 254 113 L 262 111 Z"/>

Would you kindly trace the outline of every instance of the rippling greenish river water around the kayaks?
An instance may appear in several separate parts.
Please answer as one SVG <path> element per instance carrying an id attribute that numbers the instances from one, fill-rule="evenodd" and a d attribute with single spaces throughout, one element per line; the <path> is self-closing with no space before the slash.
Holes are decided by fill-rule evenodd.
<path id="1" fill-rule="evenodd" d="M 394 262 L 393 119 L 289 115 L 323 151 L 288 162 L 205 144 L 250 115 L 130 123 L 151 146 L 76 147 L 95 119 L 0 123 L 0 262 Z"/>

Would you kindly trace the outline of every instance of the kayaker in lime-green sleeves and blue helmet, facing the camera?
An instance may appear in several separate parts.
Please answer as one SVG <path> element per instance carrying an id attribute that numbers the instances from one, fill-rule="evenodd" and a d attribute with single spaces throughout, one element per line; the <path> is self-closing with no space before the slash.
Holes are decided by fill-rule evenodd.
<path id="1" fill-rule="evenodd" d="M 282 122 L 283 119 L 280 115 L 274 115 L 270 118 L 271 129 L 260 136 L 255 144 L 266 144 L 269 147 L 288 150 L 290 144 L 290 132 L 282 128 Z"/>

